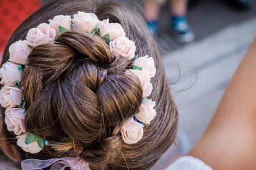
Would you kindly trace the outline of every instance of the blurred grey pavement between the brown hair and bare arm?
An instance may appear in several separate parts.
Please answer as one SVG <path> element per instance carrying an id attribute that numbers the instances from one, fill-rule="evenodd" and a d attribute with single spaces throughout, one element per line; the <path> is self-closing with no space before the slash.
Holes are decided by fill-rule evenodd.
<path id="1" fill-rule="evenodd" d="M 177 145 L 152 169 L 163 169 L 186 154 L 205 131 L 249 44 L 256 36 L 256 1 L 250 11 L 236 11 L 224 1 L 199 1 L 187 19 L 196 39 L 173 41 L 168 4 L 163 6 L 158 44 L 180 113 Z"/>

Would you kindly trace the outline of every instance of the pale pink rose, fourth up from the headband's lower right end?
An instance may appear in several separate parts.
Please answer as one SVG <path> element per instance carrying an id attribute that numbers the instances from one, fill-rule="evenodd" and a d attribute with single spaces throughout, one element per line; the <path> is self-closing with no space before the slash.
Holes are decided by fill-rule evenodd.
<path id="1" fill-rule="evenodd" d="M 139 57 L 134 61 L 134 66 L 141 67 L 143 71 L 146 71 L 150 77 L 156 75 L 156 67 L 154 67 L 154 59 L 152 57 L 144 56 Z"/>

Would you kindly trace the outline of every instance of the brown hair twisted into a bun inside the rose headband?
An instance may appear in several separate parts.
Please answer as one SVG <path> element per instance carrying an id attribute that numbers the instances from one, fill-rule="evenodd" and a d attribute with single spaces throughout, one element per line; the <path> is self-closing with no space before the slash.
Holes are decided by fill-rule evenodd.
<path id="1" fill-rule="evenodd" d="M 33 48 L 22 75 L 26 130 L 50 142 L 45 151 L 26 157 L 79 156 L 91 169 L 149 169 L 173 143 L 177 111 L 157 45 L 138 13 L 114 2 L 52 1 L 17 28 L 7 47 L 25 39 L 28 29 L 58 14 L 78 11 L 120 23 L 136 43 L 136 53 L 154 58 L 157 73 L 149 98 L 156 101 L 157 116 L 143 128 L 141 141 L 125 144 L 120 127 L 142 102 L 138 79 L 125 74 L 131 62 L 114 57 L 100 37 L 65 32 L 53 44 Z M 3 63 L 8 59 L 7 49 Z"/>

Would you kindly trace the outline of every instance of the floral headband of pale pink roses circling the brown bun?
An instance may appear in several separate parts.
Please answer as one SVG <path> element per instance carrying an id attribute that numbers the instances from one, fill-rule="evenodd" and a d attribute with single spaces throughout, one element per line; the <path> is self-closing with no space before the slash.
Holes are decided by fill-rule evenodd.
<path id="1" fill-rule="evenodd" d="M 123 141 L 133 144 L 141 140 L 143 124 L 149 124 L 156 116 L 155 102 L 147 98 L 153 88 L 151 78 L 156 74 L 154 59 L 136 55 L 135 43 L 125 37 L 124 29 L 119 23 L 109 23 L 109 19 L 99 21 L 95 14 L 80 11 L 74 14 L 73 19 L 70 16 L 55 16 L 49 19 L 49 24 L 41 23 L 36 28 L 31 28 L 26 40 L 11 44 L 9 61 L 0 69 L 0 83 L 4 84 L 0 91 L 0 104 L 6 108 L 4 120 L 8 131 L 17 135 L 17 145 L 26 152 L 38 153 L 44 145 L 49 144 L 46 139 L 26 132 L 26 100 L 22 99 L 21 75 L 27 67 L 27 57 L 33 47 L 54 43 L 56 36 L 72 29 L 102 37 L 115 57 L 124 57 L 133 62 L 132 69 L 127 74 L 135 74 L 141 82 L 143 101 L 134 116 L 124 122 L 120 132 Z"/>

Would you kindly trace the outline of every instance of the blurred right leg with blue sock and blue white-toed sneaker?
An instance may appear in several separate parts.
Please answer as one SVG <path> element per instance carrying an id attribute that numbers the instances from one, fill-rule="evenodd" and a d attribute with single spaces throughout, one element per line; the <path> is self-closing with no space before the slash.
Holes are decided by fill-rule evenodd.
<path id="1" fill-rule="evenodd" d="M 187 23 L 187 0 L 170 0 L 172 37 L 180 43 L 188 43 L 195 39 Z"/>

